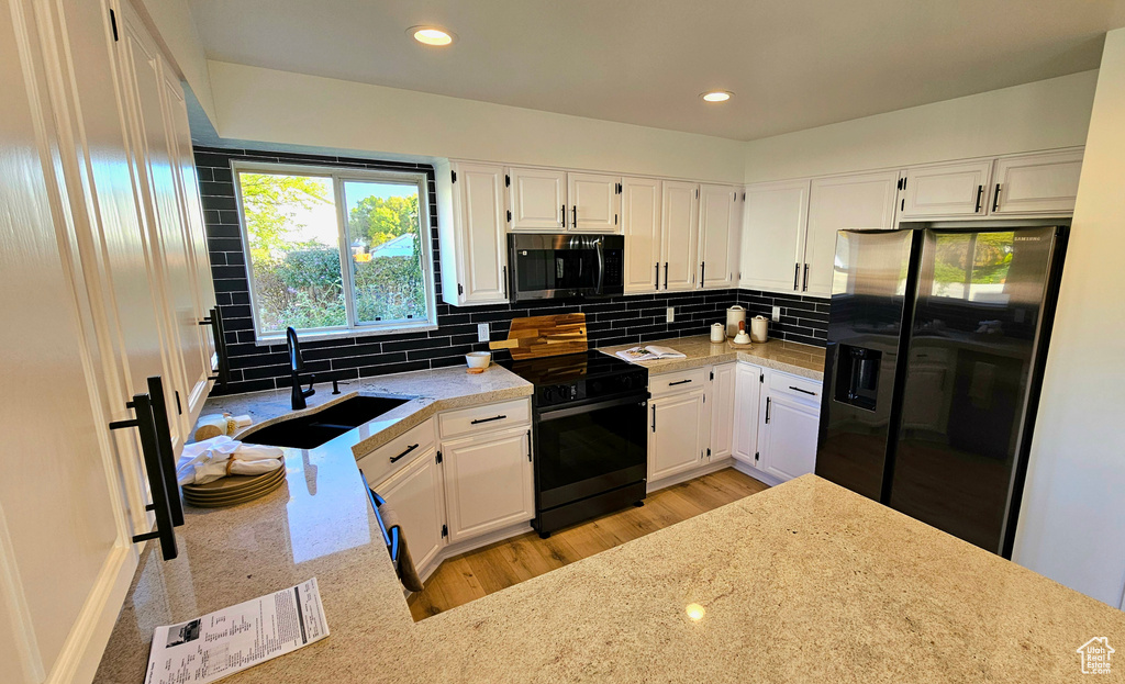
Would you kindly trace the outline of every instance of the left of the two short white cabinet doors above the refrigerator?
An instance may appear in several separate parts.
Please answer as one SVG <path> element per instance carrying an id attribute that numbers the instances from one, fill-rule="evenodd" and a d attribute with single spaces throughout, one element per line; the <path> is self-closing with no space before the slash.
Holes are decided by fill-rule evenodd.
<path id="1" fill-rule="evenodd" d="M 983 216 L 992 161 L 932 164 L 907 169 L 899 219 Z"/>

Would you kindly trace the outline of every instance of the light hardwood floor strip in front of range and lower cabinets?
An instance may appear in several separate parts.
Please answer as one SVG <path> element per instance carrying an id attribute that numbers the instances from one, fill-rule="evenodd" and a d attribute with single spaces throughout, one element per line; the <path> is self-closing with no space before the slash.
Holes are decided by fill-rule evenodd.
<path id="1" fill-rule="evenodd" d="M 641 507 L 567 528 L 549 539 L 530 532 L 454 556 L 410 597 L 411 613 L 423 620 L 767 488 L 726 468 L 654 492 Z"/>

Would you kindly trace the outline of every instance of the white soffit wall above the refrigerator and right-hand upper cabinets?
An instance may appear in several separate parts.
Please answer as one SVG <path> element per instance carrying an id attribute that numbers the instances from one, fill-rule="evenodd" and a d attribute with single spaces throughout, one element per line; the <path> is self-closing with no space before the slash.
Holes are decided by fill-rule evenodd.
<path id="1" fill-rule="evenodd" d="M 746 182 L 1081 145 L 1097 73 L 753 141 L 745 144 Z"/>

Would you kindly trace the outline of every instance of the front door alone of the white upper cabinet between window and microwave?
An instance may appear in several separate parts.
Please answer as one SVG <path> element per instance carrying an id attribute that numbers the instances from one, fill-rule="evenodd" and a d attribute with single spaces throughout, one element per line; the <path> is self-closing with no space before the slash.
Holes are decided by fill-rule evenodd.
<path id="1" fill-rule="evenodd" d="M 460 273 L 444 288 L 461 290 L 458 304 L 507 302 L 507 244 L 504 231 L 504 168 L 454 162 L 453 222 Z"/>

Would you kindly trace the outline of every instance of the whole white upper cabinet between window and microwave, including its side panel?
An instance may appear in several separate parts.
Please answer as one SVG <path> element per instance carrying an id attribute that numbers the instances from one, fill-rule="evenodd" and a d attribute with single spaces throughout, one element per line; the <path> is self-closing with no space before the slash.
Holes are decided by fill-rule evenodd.
<path id="1" fill-rule="evenodd" d="M 454 306 L 507 302 L 504 168 L 451 162 L 438 182 L 442 299 Z"/>

